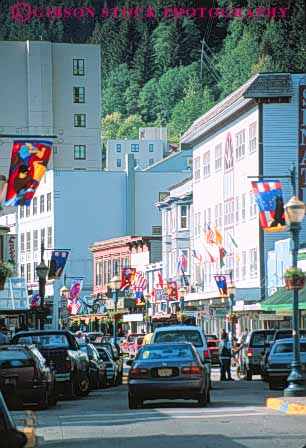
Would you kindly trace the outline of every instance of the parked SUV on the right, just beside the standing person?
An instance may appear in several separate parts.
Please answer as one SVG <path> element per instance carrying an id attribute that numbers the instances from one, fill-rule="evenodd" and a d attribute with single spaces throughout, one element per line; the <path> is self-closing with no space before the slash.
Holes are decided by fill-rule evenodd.
<path id="1" fill-rule="evenodd" d="M 238 376 L 240 379 L 252 381 L 253 375 L 262 375 L 262 354 L 269 341 L 273 339 L 275 330 L 251 331 L 239 352 Z"/>

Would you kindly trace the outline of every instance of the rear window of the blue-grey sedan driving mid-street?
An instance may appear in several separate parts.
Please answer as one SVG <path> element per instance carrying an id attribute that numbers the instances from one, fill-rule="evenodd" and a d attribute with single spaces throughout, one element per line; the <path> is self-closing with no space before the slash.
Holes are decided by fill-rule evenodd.
<path id="1" fill-rule="evenodd" d="M 157 359 L 171 359 L 180 358 L 193 360 L 194 354 L 189 346 L 180 345 L 165 345 L 156 347 L 154 345 L 147 345 L 141 350 L 138 360 L 157 360 Z"/>

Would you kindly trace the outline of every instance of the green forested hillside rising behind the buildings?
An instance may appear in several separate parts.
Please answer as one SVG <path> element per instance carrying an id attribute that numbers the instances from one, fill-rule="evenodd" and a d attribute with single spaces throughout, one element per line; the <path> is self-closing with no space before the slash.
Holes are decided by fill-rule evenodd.
<path id="1" fill-rule="evenodd" d="M 45 0 L 35 6 L 144 6 L 145 2 Z M 1 0 L 0 39 L 101 45 L 104 139 L 137 138 L 138 127 L 167 125 L 179 136 L 257 71 L 306 71 L 305 0 L 148 0 L 146 6 L 289 7 L 288 19 L 32 19 L 16 23 Z M 5 63 L 5 61 L 1 61 Z"/>

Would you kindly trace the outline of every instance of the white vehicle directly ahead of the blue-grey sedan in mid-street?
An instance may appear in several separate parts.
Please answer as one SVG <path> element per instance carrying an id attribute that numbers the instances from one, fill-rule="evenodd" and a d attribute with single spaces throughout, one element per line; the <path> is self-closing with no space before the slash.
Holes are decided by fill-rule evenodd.
<path id="1" fill-rule="evenodd" d="M 156 328 L 152 337 L 152 344 L 161 342 L 191 342 L 210 377 L 211 359 L 205 335 L 200 327 L 195 325 L 170 325 Z"/>

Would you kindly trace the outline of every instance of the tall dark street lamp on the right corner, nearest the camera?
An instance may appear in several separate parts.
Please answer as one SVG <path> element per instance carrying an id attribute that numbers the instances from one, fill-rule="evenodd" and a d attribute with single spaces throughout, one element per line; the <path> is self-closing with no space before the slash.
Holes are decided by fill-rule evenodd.
<path id="1" fill-rule="evenodd" d="M 285 219 L 292 234 L 292 267 L 297 267 L 297 257 L 299 250 L 299 234 L 301 223 L 305 216 L 304 202 L 293 196 L 285 205 Z M 286 397 L 302 397 L 306 395 L 304 387 L 304 373 L 301 366 L 300 356 L 300 328 L 299 328 L 299 291 L 293 289 L 292 302 L 292 336 L 293 336 L 293 360 L 291 372 L 288 376 L 289 386 L 284 390 Z"/>

